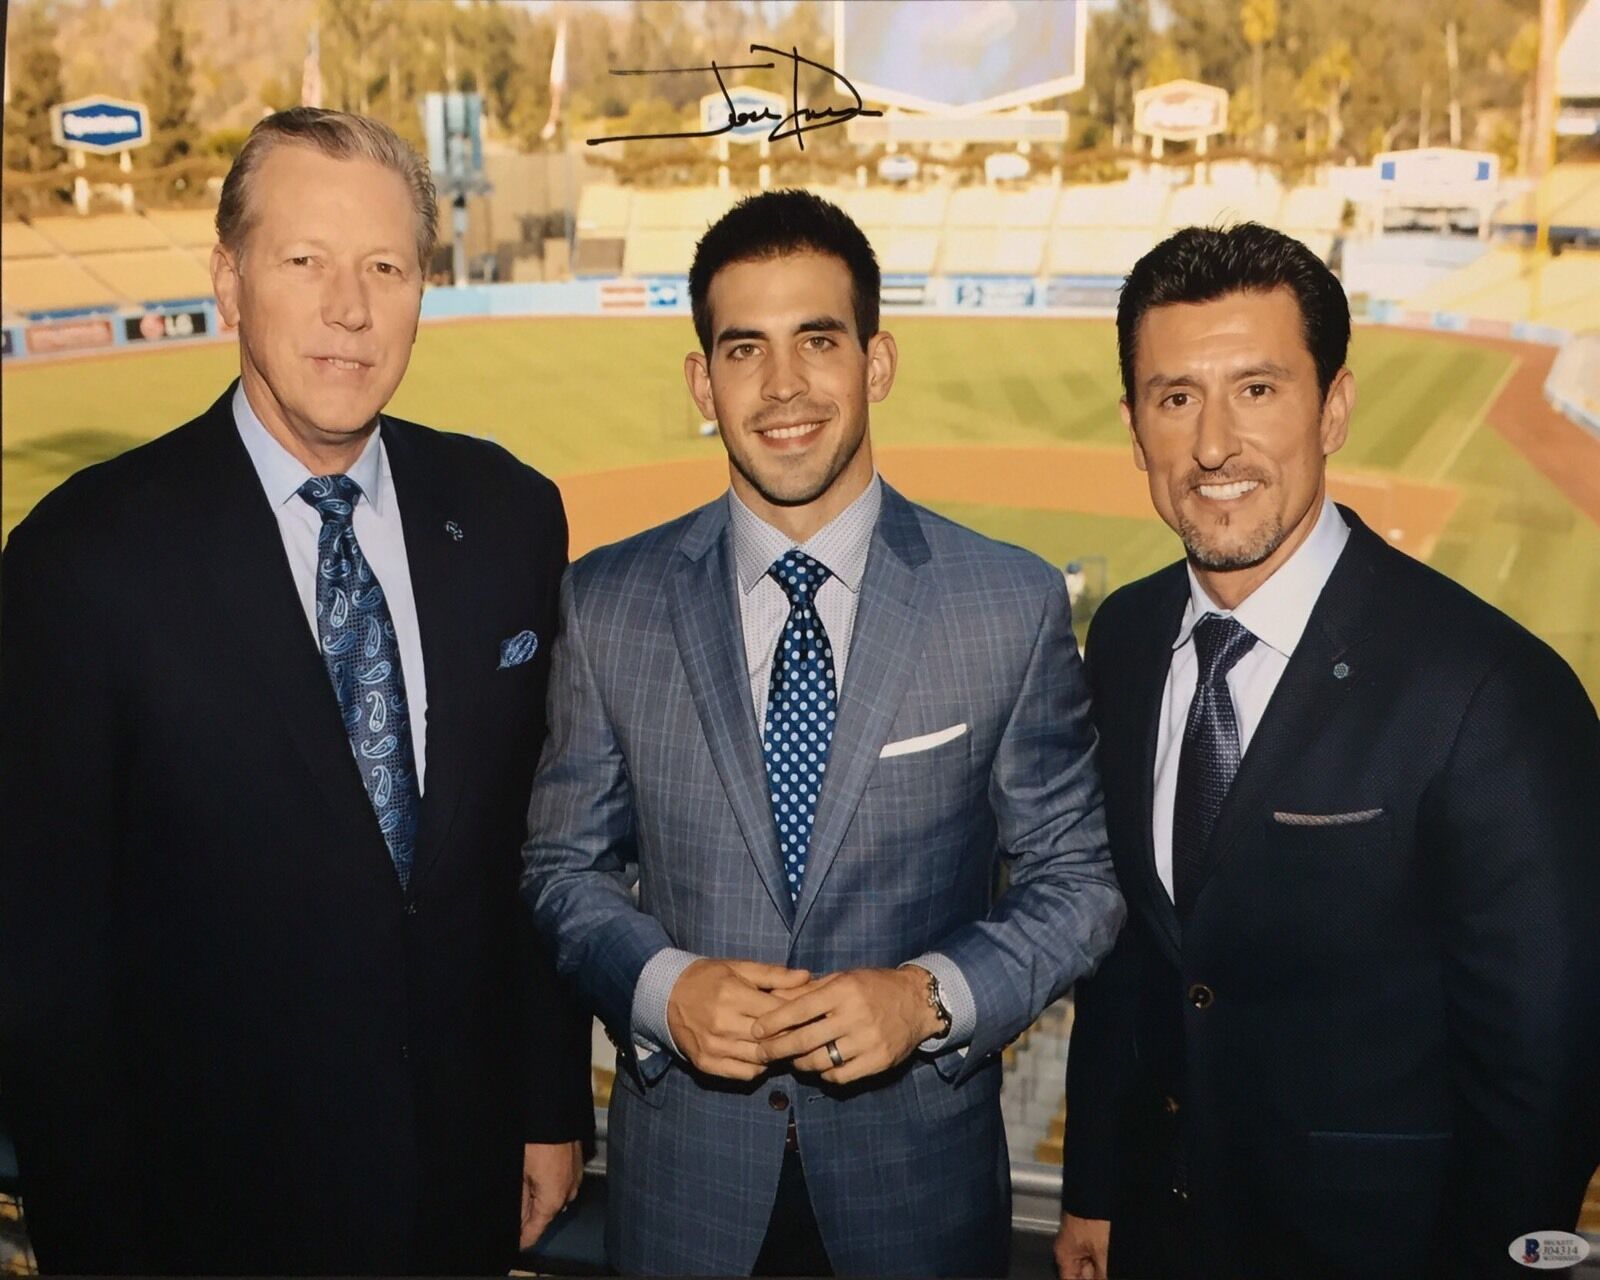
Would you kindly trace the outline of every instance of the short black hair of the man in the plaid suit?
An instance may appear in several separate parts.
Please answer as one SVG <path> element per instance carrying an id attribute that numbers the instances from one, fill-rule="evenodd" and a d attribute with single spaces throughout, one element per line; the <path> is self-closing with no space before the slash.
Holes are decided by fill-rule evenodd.
<path id="1" fill-rule="evenodd" d="M 747 195 L 701 237 L 690 267 L 690 309 L 701 350 L 710 355 L 710 282 L 733 262 L 760 262 L 790 253 L 826 253 L 850 269 L 851 306 L 861 349 L 878 331 L 878 258 L 866 234 L 838 205 L 789 187 Z"/>

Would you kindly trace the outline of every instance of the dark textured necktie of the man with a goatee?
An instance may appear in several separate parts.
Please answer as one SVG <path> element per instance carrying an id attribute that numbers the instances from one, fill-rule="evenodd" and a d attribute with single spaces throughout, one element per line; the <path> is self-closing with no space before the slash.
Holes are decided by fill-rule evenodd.
<path id="1" fill-rule="evenodd" d="M 1179 920 L 1189 918 L 1205 883 L 1211 830 L 1238 773 L 1238 720 L 1227 674 L 1256 637 L 1232 618 L 1208 613 L 1195 624 L 1194 642 L 1200 672 L 1184 723 L 1173 805 L 1173 904 Z"/>

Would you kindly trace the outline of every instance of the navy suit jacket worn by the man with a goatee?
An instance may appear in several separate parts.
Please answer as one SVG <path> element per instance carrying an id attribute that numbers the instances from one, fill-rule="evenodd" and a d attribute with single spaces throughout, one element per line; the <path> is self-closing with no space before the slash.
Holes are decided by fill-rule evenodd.
<path id="1" fill-rule="evenodd" d="M 1062 1203 L 1114 1275 L 1520 1274 L 1600 1158 L 1594 707 L 1342 514 L 1182 928 L 1150 803 L 1184 566 L 1090 630 L 1130 920 L 1078 992 Z"/>

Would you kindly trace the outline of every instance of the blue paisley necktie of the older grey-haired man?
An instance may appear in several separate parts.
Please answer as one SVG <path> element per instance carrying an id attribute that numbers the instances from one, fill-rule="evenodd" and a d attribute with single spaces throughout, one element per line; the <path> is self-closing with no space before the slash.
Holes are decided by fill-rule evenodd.
<path id="1" fill-rule="evenodd" d="M 322 514 L 317 645 L 403 890 L 411 883 L 421 800 L 395 624 L 355 541 L 352 517 L 362 486 L 349 475 L 318 475 L 301 485 L 299 496 Z"/>

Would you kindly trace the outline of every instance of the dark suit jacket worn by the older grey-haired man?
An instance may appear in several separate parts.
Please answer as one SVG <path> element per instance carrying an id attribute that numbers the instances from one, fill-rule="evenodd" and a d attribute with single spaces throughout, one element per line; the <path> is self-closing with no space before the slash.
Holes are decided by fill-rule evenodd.
<path id="1" fill-rule="evenodd" d="M 429 694 L 402 893 L 230 394 L 5 550 L 0 1088 L 29 1230 L 67 1272 L 504 1270 L 523 1141 L 594 1118 L 587 1018 L 517 894 L 560 498 L 384 419 Z M 501 669 L 522 630 L 541 651 Z"/>

